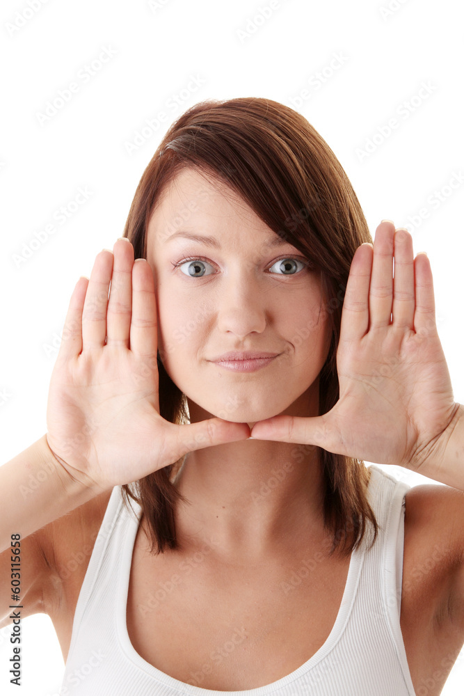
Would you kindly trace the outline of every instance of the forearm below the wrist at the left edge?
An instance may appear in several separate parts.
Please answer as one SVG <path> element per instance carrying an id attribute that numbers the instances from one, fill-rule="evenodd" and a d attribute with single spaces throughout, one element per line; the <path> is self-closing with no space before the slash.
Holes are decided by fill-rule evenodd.
<path id="1" fill-rule="evenodd" d="M 97 494 L 67 473 L 42 436 L 0 466 L 0 552 L 13 533 L 27 537 Z"/>

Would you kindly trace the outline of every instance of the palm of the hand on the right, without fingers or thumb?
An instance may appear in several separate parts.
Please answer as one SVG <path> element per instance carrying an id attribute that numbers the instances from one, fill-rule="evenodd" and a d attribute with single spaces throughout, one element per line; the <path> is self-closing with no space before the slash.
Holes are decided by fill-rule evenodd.
<path id="1" fill-rule="evenodd" d="M 390 334 L 390 335 L 389 335 Z M 340 397 L 327 414 L 351 457 L 405 466 L 444 430 L 454 404 L 438 336 L 370 331 L 337 351 Z"/>

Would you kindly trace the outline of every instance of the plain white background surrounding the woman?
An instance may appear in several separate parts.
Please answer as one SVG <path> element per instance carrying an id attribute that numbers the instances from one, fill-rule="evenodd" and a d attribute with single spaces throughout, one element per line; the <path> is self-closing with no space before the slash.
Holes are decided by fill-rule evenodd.
<path id="1" fill-rule="evenodd" d="M 122 235 L 169 123 L 209 97 L 269 97 L 301 111 L 342 163 L 372 237 L 383 218 L 410 230 L 415 254 L 426 251 L 431 260 L 438 332 L 455 400 L 464 403 L 459 3 L 280 0 L 263 20 L 267 0 L 30 1 L 38 9 L 26 0 L 3 0 L 0 9 L 1 461 L 46 432 L 49 380 L 74 285 Z M 107 62 L 84 79 L 104 49 Z M 202 84 L 189 92 L 192 76 Z M 79 90 L 41 124 L 47 101 L 72 82 Z M 182 95 L 177 106 L 175 95 Z M 159 111 L 168 122 L 129 154 L 127 143 Z M 388 134 L 391 118 L 398 127 Z M 374 136 L 370 154 L 360 157 Z M 88 200 L 59 223 L 56 210 L 79 187 Z M 54 233 L 25 258 L 51 223 Z M 388 470 L 412 485 L 433 483 Z M 18 693 L 8 683 L 9 635 L 3 628 L 2 694 Z M 64 665 L 51 621 L 26 618 L 22 635 L 22 696 L 58 693 Z M 464 651 L 442 693 L 461 694 L 463 680 Z"/>

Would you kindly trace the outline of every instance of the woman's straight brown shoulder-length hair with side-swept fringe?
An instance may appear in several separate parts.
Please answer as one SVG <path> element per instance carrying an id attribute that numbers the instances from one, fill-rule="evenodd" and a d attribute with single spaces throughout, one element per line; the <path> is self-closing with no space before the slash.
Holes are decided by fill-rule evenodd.
<path id="1" fill-rule="evenodd" d="M 319 416 L 339 398 L 336 354 L 342 305 L 356 248 L 371 242 L 365 216 L 344 169 L 310 123 L 273 100 L 240 97 L 207 100 L 185 111 L 168 129 L 138 184 L 124 236 L 135 258 L 147 258 L 146 233 L 161 193 L 184 168 L 225 182 L 271 230 L 298 248 L 321 274 L 321 289 L 333 330 L 319 374 Z M 303 327 L 304 329 L 304 327 Z M 170 422 L 189 422 L 184 394 L 157 356 L 159 407 Z M 367 500 L 369 470 L 364 461 L 322 448 L 324 525 L 333 546 L 351 553 L 360 546 L 375 514 Z M 294 450 L 302 451 L 301 445 Z M 175 505 L 186 499 L 173 481 L 182 459 L 122 488 L 125 503 L 136 500 L 150 528 L 152 553 L 180 548 Z M 131 490 L 135 487 L 135 491 Z"/>

